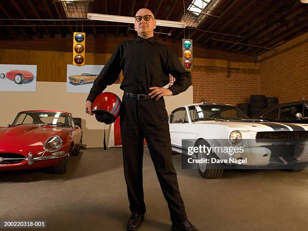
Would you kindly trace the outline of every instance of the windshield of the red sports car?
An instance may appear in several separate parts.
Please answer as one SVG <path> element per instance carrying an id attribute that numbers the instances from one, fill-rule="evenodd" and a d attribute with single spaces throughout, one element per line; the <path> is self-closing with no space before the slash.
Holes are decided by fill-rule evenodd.
<path id="1" fill-rule="evenodd" d="M 72 126 L 69 115 L 61 112 L 21 112 L 18 113 L 11 126 L 20 124 Z"/>

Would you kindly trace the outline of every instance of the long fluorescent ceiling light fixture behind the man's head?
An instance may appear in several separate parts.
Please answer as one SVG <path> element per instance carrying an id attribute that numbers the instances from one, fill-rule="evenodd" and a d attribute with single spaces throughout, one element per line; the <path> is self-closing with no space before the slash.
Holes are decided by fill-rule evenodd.
<path id="1" fill-rule="evenodd" d="M 117 22 L 117 23 L 135 23 L 134 17 L 118 16 L 118 15 L 101 15 L 88 13 L 88 19 L 107 21 L 107 22 Z M 175 27 L 175 28 L 185 28 L 185 22 L 167 21 L 167 20 L 156 20 L 157 26 L 162 27 Z"/>

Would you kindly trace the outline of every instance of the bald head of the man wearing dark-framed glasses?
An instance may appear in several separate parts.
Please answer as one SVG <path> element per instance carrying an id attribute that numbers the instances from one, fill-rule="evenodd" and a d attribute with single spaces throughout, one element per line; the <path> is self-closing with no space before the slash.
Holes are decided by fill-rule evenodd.
<path id="1" fill-rule="evenodd" d="M 137 11 L 135 16 L 146 16 L 150 15 L 151 18 L 148 21 L 145 21 L 144 18 L 141 19 L 141 21 L 137 22 L 135 20 L 135 31 L 137 31 L 138 35 L 142 38 L 150 38 L 154 36 L 154 29 L 156 28 L 156 21 L 154 19 L 153 13 L 146 9 L 142 8 Z"/>

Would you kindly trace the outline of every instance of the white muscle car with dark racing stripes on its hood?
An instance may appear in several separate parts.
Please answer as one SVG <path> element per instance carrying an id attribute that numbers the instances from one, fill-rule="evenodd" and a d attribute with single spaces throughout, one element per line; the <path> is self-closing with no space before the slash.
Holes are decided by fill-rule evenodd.
<path id="1" fill-rule="evenodd" d="M 226 168 L 271 168 L 300 172 L 308 165 L 308 124 L 249 119 L 233 105 L 202 103 L 169 116 L 172 150 L 204 178 Z M 194 167 L 193 167 L 194 166 Z"/>

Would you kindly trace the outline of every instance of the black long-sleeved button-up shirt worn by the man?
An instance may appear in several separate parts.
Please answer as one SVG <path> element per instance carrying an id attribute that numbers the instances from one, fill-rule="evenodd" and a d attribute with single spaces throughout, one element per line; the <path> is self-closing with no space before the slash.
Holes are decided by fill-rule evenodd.
<path id="1" fill-rule="evenodd" d="M 170 81 L 169 73 L 176 81 L 169 89 L 173 95 L 184 92 L 191 85 L 191 74 L 169 47 L 151 38 L 122 42 L 97 76 L 87 100 L 91 102 L 112 85 L 123 70 L 120 88 L 135 94 L 148 94 L 150 87 L 164 87 Z"/>

